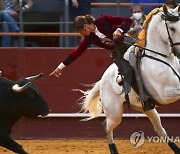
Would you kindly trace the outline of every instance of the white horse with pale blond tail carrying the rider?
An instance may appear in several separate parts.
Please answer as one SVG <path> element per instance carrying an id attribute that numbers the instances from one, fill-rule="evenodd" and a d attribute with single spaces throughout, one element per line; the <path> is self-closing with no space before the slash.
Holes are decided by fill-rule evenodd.
<path id="1" fill-rule="evenodd" d="M 142 57 L 140 70 L 141 78 L 146 90 L 161 105 L 167 105 L 180 100 L 180 20 L 179 6 L 173 10 L 167 10 L 155 14 L 149 22 L 147 29 L 147 43 L 145 55 Z M 127 51 L 132 50 L 130 47 Z M 153 52 L 155 51 L 155 52 Z M 128 54 L 125 55 L 128 58 Z M 149 56 L 149 57 L 148 57 Z M 102 110 L 106 116 L 103 128 L 106 132 L 107 141 L 111 154 L 118 154 L 113 140 L 113 130 L 122 120 L 124 93 L 123 88 L 117 84 L 118 69 L 112 64 L 103 74 L 102 78 L 95 83 L 94 87 L 84 94 L 82 100 L 83 109 L 89 112 L 93 119 Z M 161 125 L 161 119 L 156 109 L 143 111 L 141 103 L 137 100 L 137 94 L 131 90 L 129 94 L 131 107 L 145 113 L 155 132 L 168 139 L 170 148 L 180 154 L 180 148 L 167 136 Z"/>

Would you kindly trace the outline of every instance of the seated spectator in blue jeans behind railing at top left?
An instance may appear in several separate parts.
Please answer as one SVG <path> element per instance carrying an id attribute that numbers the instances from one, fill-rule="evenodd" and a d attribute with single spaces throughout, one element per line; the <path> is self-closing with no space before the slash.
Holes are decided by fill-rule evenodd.
<path id="1" fill-rule="evenodd" d="M 32 6 L 32 0 L 23 0 L 22 12 L 26 12 Z M 0 14 L 0 22 L 3 22 L 3 32 L 18 32 L 19 27 L 17 21 L 19 18 L 19 0 L 4 0 L 4 10 Z M 2 46 L 9 47 L 11 45 L 11 37 L 2 37 Z"/>

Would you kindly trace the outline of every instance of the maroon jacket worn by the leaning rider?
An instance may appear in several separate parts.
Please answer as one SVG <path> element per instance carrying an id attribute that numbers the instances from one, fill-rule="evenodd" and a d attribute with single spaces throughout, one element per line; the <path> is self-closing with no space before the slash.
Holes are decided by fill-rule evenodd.
<path id="1" fill-rule="evenodd" d="M 121 28 L 123 33 L 126 33 L 133 21 L 130 18 L 123 18 L 117 16 L 103 15 L 97 18 L 94 24 L 97 26 L 97 29 L 103 33 L 107 38 L 113 40 L 113 32 L 117 28 Z M 123 38 L 122 38 L 123 39 Z M 85 37 L 64 60 L 63 64 L 68 66 L 75 59 L 77 59 L 88 47 L 90 44 L 95 44 L 98 47 L 102 47 L 108 50 L 113 50 L 114 48 L 110 45 L 103 43 L 95 33 L 91 32 L 90 36 Z"/>

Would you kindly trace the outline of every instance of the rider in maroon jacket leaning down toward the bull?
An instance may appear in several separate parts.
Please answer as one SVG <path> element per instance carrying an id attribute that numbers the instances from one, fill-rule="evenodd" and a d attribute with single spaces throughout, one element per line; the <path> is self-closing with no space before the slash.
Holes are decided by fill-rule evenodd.
<path id="1" fill-rule="evenodd" d="M 128 93 L 132 86 L 133 68 L 123 56 L 131 45 L 124 43 L 127 39 L 128 41 L 131 40 L 130 37 L 124 37 L 124 34 L 130 29 L 132 22 L 130 18 L 110 15 L 103 15 L 97 19 L 90 15 L 77 16 L 74 20 L 74 28 L 84 39 L 50 75 L 59 77 L 66 66 L 77 59 L 90 44 L 95 44 L 111 52 L 112 60 L 118 67 L 118 74 L 123 79 L 119 85 L 123 85 L 126 101 L 129 102 Z M 135 86 L 133 88 L 137 89 Z M 143 99 L 142 101 L 145 102 L 145 110 L 154 108 L 154 106 L 151 106 L 150 99 Z"/>

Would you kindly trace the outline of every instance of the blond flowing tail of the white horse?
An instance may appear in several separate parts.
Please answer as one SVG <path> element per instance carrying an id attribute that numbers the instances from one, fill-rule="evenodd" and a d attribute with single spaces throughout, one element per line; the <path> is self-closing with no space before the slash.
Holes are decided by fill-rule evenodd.
<path id="1" fill-rule="evenodd" d="M 90 113 L 90 117 L 84 120 L 91 120 L 96 118 L 102 112 L 102 105 L 99 95 L 100 81 L 96 82 L 92 89 L 87 90 L 82 97 L 82 110 Z"/>

